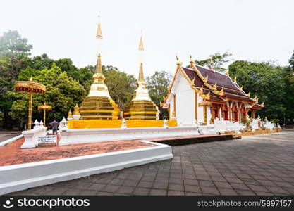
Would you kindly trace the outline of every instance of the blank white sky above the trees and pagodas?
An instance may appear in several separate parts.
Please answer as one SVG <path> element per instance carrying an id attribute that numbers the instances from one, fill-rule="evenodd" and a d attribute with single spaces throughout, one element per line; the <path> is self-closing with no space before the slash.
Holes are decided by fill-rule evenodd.
<path id="1" fill-rule="evenodd" d="M 294 1 L 1 1 L 0 34 L 18 30 L 34 46 L 32 56 L 71 58 L 95 65 L 95 34 L 101 16 L 103 65 L 137 77 L 140 32 L 145 75 L 174 72 L 176 53 L 189 63 L 229 51 L 233 60 L 277 60 L 287 65 L 294 50 Z"/>

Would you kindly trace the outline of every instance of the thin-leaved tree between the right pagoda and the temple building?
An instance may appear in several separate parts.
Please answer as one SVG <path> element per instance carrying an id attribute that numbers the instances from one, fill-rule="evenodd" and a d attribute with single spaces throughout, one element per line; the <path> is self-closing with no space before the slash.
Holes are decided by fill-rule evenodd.
<path id="1" fill-rule="evenodd" d="M 164 119 L 168 117 L 166 109 L 161 108 L 160 103 L 168 94 L 168 87 L 171 84 L 172 75 L 166 71 L 156 71 L 153 75 L 147 77 L 147 89 L 152 101 L 158 106 L 160 110 L 159 118 Z"/>

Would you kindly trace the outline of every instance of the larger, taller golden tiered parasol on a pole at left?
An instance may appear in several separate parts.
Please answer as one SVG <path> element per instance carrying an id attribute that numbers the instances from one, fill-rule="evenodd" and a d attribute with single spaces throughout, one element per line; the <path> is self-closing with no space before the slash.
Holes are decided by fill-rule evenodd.
<path id="1" fill-rule="evenodd" d="M 32 77 L 28 81 L 19 81 L 14 83 L 15 91 L 27 91 L 29 93 L 29 114 L 27 120 L 27 130 L 32 129 L 32 94 L 44 94 L 46 87 L 43 84 L 32 81 Z"/>

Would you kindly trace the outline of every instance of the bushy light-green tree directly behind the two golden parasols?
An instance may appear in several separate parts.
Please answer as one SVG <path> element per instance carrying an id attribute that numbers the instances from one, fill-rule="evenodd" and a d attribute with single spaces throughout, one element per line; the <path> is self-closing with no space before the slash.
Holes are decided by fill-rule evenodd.
<path id="1" fill-rule="evenodd" d="M 32 120 L 42 120 L 42 111 L 37 110 L 38 105 L 47 103 L 52 106 L 52 110 L 47 113 L 47 121 L 54 118 L 61 120 L 67 117 L 68 110 L 73 110 L 76 103 L 81 103 L 85 98 L 85 89 L 72 77 L 68 77 L 67 72 L 52 64 L 50 69 L 39 71 L 39 75 L 33 77 L 35 82 L 46 86 L 45 94 L 34 94 L 32 102 Z M 11 91 L 9 93 L 16 101 L 11 108 L 11 117 L 27 122 L 28 94 Z"/>

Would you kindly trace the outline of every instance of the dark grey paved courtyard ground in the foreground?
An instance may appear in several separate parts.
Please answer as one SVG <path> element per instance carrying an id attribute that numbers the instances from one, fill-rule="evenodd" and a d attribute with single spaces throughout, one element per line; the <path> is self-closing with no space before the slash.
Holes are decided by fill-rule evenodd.
<path id="1" fill-rule="evenodd" d="M 174 158 L 14 195 L 293 195 L 294 131 L 173 147 Z"/>

